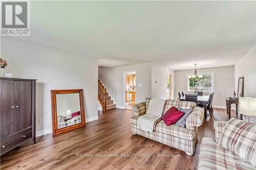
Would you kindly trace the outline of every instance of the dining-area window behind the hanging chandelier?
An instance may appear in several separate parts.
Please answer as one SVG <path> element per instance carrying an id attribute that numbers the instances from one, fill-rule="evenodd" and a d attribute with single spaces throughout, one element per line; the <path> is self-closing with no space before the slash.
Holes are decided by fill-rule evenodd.
<path id="1" fill-rule="evenodd" d="M 214 91 L 214 73 L 198 74 L 203 75 L 199 82 L 190 81 L 188 76 L 193 76 L 193 74 L 187 75 L 188 91 L 204 91 L 212 92 Z"/>

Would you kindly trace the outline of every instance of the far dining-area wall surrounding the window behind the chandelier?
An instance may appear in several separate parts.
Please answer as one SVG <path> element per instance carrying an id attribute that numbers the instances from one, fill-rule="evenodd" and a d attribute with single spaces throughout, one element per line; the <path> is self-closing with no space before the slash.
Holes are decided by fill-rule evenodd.
<path id="1" fill-rule="evenodd" d="M 214 107 L 226 108 L 225 97 L 234 91 L 234 66 L 212 67 L 197 69 L 198 74 L 214 72 Z M 175 71 L 175 96 L 179 91 L 193 93 L 187 90 L 187 74 L 194 74 L 194 69 Z"/>

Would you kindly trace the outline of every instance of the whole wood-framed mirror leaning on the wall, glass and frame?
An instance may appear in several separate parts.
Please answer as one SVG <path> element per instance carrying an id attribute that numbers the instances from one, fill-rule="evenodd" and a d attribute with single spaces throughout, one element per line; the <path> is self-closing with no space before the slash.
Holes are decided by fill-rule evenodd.
<path id="1" fill-rule="evenodd" d="M 51 90 L 52 135 L 86 126 L 83 90 Z"/>

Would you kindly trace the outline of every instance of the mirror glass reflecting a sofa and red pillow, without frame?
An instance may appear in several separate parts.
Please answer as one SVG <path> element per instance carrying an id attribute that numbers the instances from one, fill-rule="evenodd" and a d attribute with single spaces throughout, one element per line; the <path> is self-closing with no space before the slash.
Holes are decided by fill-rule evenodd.
<path id="1" fill-rule="evenodd" d="M 58 129 L 81 123 L 79 93 L 56 94 Z"/>

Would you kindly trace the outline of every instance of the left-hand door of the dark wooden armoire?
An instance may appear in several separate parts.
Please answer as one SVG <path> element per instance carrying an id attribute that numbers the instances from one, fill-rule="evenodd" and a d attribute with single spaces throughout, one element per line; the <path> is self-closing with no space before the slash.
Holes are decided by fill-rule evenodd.
<path id="1" fill-rule="evenodd" d="M 14 133 L 14 81 L 1 80 L 1 138 Z"/>

